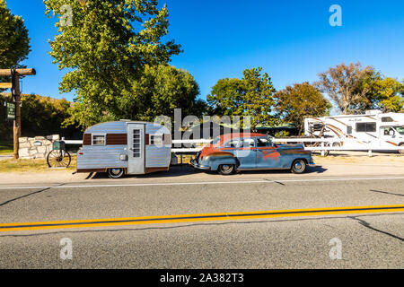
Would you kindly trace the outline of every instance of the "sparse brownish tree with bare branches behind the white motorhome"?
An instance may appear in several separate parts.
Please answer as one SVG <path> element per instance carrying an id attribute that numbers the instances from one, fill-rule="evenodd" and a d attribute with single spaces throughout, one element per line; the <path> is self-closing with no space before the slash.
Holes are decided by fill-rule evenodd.
<path id="1" fill-rule="evenodd" d="M 319 74 L 320 81 L 316 83 L 321 92 L 329 95 L 343 114 L 354 114 L 368 109 L 372 104 L 369 99 L 369 85 L 378 74 L 373 67 L 362 68 L 360 63 L 330 67 L 328 71 Z"/>

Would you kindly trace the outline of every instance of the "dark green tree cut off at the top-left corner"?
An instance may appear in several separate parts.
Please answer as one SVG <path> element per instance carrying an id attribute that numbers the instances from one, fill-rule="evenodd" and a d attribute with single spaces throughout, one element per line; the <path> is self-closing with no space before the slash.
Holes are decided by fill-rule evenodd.
<path id="1" fill-rule="evenodd" d="M 4 0 L 0 0 L 0 69 L 21 68 L 20 63 L 30 53 L 30 38 L 21 16 L 7 9 Z M 0 82 L 9 78 L 0 77 Z"/>

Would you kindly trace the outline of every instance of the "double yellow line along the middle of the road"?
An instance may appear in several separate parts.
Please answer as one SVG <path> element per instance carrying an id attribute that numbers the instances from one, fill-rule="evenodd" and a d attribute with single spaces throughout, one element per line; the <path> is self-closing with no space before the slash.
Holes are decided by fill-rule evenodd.
<path id="1" fill-rule="evenodd" d="M 298 217 L 298 216 L 350 214 L 350 213 L 391 213 L 391 212 L 404 212 L 404 205 L 350 206 L 350 207 L 332 207 L 332 208 L 273 210 L 264 212 L 243 212 L 243 213 L 201 213 L 201 214 L 107 218 L 107 219 L 59 221 L 59 222 L 0 223 L 0 231 L 50 230 L 50 229 L 120 226 L 120 225 L 135 225 L 135 224 L 210 222 L 210 221 L 255 219 L 255 218 Z"/>

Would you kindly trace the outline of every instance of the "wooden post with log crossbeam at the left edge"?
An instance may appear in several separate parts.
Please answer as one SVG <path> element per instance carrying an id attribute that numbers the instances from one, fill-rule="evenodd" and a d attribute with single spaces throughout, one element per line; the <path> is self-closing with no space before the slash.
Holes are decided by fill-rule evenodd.
<path id="1" fill-rule="evenodd" d="M 0 69 L 0 76 L 12 76 L 12 97 L 15 103 L 15 119 L 13 121 L 13 158 L 18 159 L 19 142 L 21 136 L 21 91 L 20 76 L 35 75 L 35 69 Z"/>

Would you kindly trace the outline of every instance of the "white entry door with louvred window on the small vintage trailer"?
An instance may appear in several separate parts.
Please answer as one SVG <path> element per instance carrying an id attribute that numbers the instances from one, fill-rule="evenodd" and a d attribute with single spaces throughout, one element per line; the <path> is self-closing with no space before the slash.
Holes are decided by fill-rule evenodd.
<path id="1" fill-rule="evenodd" d="M 145 125 L 127 124 L 127 173 L 145 173 Z"/>

